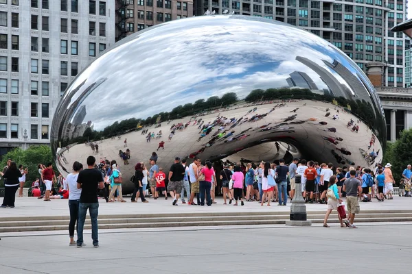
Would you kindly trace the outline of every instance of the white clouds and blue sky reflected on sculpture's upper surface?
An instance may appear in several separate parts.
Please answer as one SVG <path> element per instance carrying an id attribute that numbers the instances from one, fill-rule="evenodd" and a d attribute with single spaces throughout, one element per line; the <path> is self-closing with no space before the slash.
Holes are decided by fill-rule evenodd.
<path id="1" fill-rule="evenodd" d="M 89 86 L 98 77 L 108 78 L 83 102 L 85 120 L 98 130 L 226 92 L 243 98 L 257 88 L 288 86 L 286 78 L 293 71 L 307 73 L 319 88 L 326 88 L 317 73 L 295 60 L 297 55 L 325 69 L 321 60 L 339 60 L 350 71 L 358 70 L 327 41 L 277 21 L 202 16 L 126 39 L 95 60 L 70 87 L 84 79 Z"/>

